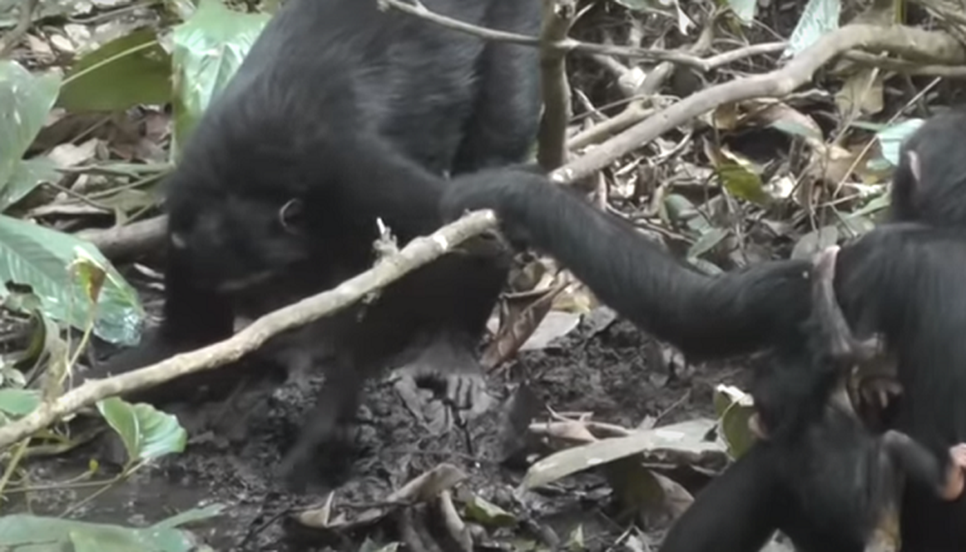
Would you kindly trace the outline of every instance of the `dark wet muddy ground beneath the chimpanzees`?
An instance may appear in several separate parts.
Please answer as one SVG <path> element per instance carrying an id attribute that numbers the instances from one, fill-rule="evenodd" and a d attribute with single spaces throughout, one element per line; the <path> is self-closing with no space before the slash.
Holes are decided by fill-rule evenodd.
<path id="1" fill-rule="evenodd" d="M 611 516 L 611 487 L 599 475 L 584 473 L 536 491 L 514 490 L 526 466 L 500 460 L 519 453 L 515 444 L 522 442 L 524 434 L 519 426 L 526 427 L 529 417 L 521 421 L 518 415 L 514 429 L 511 406 L 526 404 L 538 413 L 545 413 L 546 407 L 557 412 L 592 412 L 594 420 L 626 428 L 655 419 L 663 426 L 712 416 L 714 385 L 723 381 L 740 385 L 744 377 L 734 367 L 683 366 L 667 347 L 630 323 L 615 320 L 606 309 L 583 317 L 575 330 L 544 349 L 521 352 L 492 372 L 489 386 L 494 405 L 463 427 L 449 431 L 427 427 L 402 399 L 398 379 L 387 375 L 367 385 L 356 434 L 359 451 L 348 480 L 337 487 L 335 507 L 353 515 L 384 501 L 388 493 L 440 462 L 448 462 L 469 475 L 462 487 L 522 522 L 490 530 L 482 546 L 476 538 L 477 550 L 525 549 L 513 544 L 517 538 L 553 541 L 555 536 L 566 542 L 578 527 L 588 550 L 627 549 L 611 548 L 629 523 Z M 307 383 L 263 382 L 227 405 L 164 408 L 178 413 L 186 427 L 194 423 L 190 420 L 206 417 L 218 423 L 212 430 L 190 434 L 185 454 L 162 458 L 79 507 L 84 497 L 98 489 L 71 490 L 63 482 L 85 470 L 91 458 L 110 466 L 103 442 L 69 455 L 35 460 L 30 464 L 33 483 L 60 490 L 31 493 L 30 508 L 35 513 L 68 511 L 76 519 L 144 526 L 179 511 L 218 503 L 226 507 L 220 516 L 190 526 L 215 550 L 355 551 L 366 538 L 390 542 L 397 537 L 391 522 L 333 542 L 326 534 L 302 529 L 288 515 L 293 509 L 318 506 L 325 498 L 318 493 L 290 494 L 273 478 L 273 469 L 294 442 L 322 382 L 321 375 Z M 109 475 L 105 470 L 101 477 Z M 694 471 L 677 471 L 669 475 L 692 492 L 706 482 Z M 21 503 L 14 510 L 26 507 Z M 666 525 L 648 527 L 645 537 L 659 542 Z"/>

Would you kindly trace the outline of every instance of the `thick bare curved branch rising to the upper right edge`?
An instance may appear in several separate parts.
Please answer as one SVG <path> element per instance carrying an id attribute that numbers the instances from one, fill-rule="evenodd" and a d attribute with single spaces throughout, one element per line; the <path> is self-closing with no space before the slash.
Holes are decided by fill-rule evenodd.
<path id="1" fill-rule="evenodd" d="M 906 56 L 928 52 L 930 59 L 939 59 L 949 65 L 966 63 L 966 51 L 962 44 L 946 33 L 900 25 L 846 25 L 822 37 L 781 69 L 728 81 L 678 101 L 557 169 L 554 179 L 561 182 L 583 179 L 610 165 L 621 155 L 637 150 L 668 130 L 700 117 L 719 105 L 754 97 L 787 96 L 808 83 L 815 71 L 853 48 L 901 52 Z"/>

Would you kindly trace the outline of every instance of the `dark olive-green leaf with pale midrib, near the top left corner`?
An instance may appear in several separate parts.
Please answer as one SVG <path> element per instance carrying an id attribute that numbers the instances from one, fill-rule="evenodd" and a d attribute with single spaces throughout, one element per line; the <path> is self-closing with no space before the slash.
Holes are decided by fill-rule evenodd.
<path id="1" fill-rule="evenodd" d="M 171 57 L 155 31 L 139 29 L 83 56 L 64 80 L 58 105 L 71 111 L 123 111 L 171 99 Z"/>

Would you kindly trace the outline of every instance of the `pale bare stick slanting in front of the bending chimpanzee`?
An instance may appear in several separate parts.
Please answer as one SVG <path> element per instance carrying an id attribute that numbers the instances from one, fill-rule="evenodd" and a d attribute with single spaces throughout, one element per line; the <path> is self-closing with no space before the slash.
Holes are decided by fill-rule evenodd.
<path id="1" fill-rule="evenodd" d="M 56 420 L 98 400 L 164 383 L 186 373 L 210 370 L 238 360 L 270 337 L 344 309 L 366 294 L 384 288 L 406 273 L 439 258 L 454 246 L 496 226 L 493 211 L 470 213 L 425 237 L 417 237 L 399 253 L 385 257 L 370 270 L 328 290 L 279 309 L 252 322 L 223 342 L 175 355 L 155 365 L 106 379 L 89 380 L 31 414 L 0 428 L 0 448 L 9 446 Z"/>

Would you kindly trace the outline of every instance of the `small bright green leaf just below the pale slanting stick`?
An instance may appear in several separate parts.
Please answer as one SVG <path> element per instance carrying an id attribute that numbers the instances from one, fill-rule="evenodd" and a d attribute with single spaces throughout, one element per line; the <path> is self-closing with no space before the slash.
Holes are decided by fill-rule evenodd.
<path id="1" fill-rule="evenodd" d="M 151 460 L 185 451 L 187 431 L 178 424 L 178 418 L 150 404 L 130 404 L 112 397 L 99 401 L 98 410 L 121 436 L 129 460 Z"/>

